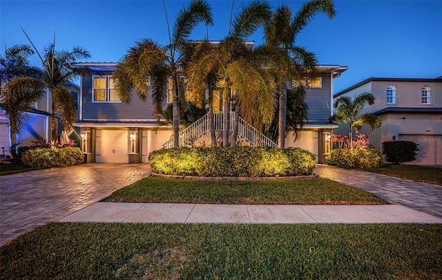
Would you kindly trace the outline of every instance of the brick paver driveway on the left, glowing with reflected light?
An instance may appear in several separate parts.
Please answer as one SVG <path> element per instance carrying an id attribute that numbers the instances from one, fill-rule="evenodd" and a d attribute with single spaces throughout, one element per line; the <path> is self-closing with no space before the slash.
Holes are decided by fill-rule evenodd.
<path id="1" fill-rule="evenodd" d="M 148 176 L 147 164 L 93 163 L 0 177 L 0 245 Z"/>

